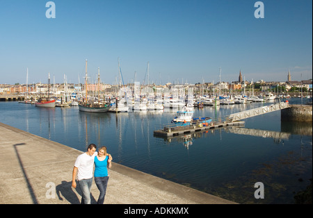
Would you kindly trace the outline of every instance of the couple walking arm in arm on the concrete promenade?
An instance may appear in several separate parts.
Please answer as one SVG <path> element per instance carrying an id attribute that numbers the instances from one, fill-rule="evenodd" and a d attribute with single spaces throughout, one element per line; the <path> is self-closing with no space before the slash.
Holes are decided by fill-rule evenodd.
<path id="1" fill-rule="evenodd" d="M 91 185 L 93 184 L 93 165 L 95 164 L 95 183 L 100 191 L 98 204 L 104 203 L 106 186 L 109 181 L 108 168 L 111 168 L 112 156 L 106 153 L 106 146 L 102 146 L 99 152 L 96 151 L 95 144 L 89 144 L 88 150 L 78 156 L 73 169 L 72 187 L 76 188 L 76 176 L 81 187 L 81 203 L 90 204 Z"/>

